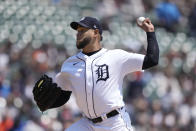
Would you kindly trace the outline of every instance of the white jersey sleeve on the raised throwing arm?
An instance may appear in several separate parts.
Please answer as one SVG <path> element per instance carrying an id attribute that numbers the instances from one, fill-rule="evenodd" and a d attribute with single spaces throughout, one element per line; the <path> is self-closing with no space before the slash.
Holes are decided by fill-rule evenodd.
<path id="1" fill-rule="evenodd" d="M 124 50 L 119 50 L 119 59 L 121 65 L 121 73 L 126 75 L 135 71 L 142 71 L 145 55 L 137 53 L 129 53 Z"/>

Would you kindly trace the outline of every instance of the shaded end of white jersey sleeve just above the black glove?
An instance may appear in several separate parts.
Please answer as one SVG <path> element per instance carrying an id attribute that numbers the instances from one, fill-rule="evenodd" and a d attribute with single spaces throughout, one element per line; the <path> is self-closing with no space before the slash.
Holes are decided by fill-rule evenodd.
<path id="1" fill-rule="evenodd" d="M 55 77 L 57 85 L 60 86 L 64 91 L 72 91 L 71 82 L 68 78 L 68 74 L 65 72 L 60 72 Z"/>

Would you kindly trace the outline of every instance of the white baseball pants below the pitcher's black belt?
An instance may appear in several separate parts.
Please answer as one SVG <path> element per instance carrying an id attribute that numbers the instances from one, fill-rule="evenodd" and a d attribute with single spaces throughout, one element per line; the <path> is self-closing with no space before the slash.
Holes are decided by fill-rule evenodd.
<path id="1" fill-rule="evenodd" d="M 87 118 L 81 118 L 65 131 L 133 131 L 129 114 L 125 108 L 120 113 L 100 123 L 93 123 Z"/>

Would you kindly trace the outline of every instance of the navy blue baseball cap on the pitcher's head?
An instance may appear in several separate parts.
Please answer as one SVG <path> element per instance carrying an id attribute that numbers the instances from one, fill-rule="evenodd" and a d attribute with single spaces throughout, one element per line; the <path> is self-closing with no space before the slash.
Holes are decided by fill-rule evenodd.
<path id="1" fill-rule="evenodd" d="M 70 26 L 74 30 L 77 30 L 78 25 L 85 27 L 85 28 L 90 28 L 90 29 L 98 29 L 100 35 L 102 35 L 102 27 L 100 22 L 93 17 L 83 17 L 79 22 L 71 22 Z"/>

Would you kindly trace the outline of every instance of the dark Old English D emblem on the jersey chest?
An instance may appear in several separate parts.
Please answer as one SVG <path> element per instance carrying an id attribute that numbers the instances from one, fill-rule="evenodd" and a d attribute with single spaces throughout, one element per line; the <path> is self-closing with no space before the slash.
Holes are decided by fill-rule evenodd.
<path id="1" fill-rule="evenodd" d="M 97 66 L 97 70 L 95 71 L 97 74 L 97 81 L 106 81 L 109 78 L 109 71 L 108 71 L 108 65 L 95 65 Z"/>

